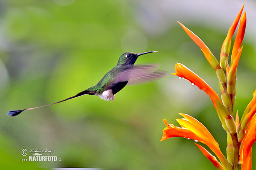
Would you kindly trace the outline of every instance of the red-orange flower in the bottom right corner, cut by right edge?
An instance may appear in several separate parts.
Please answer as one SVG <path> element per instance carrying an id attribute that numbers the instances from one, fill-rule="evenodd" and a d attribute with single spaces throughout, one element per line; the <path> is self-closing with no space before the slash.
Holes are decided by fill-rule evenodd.
<path id="1" fill-rule="evenodd" d="M 240 150 L 241 170 L 252 169 L 252 147 L 256 142 L 256 116 L 254 115 L 245 132 Z"/>

